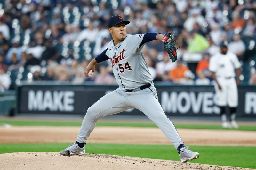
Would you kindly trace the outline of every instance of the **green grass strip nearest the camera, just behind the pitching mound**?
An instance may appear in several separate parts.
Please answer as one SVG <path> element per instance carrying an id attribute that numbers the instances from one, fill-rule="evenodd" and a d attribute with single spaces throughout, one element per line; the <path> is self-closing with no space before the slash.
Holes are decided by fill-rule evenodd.
<path id="1" fill-rule="evenodd" d="M 0 153 L 59 152 L 67 146 L 67 143 L 0 144 Z M 256 169 L 256 147 L 191 146 L 190 149 L 200 153 L 200 158 L 192 161 L 194 163 Z M 172 145 L 87 143 L 86 153 L 180 161 L 178 153 Z"/>

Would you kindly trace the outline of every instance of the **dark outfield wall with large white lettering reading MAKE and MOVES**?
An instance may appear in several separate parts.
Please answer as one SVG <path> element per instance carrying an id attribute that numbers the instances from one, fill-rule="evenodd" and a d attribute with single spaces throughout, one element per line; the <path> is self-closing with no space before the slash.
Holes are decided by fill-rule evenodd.
<path id="1" fill-rule="evenodd" d="M 158 100 L 168 116 L 219 116 L 213 86 L 166 85 L 156 83 Z M 117 85 L 74 85 L 71 83 L 20 83 L 17 88 L 17 113 L 76 114 L 86 110 Z M 256 87 L 238 87 L 238 117 L 256 117 Z M 228 111 L 228 109 L 227 109 Z M 137 109 L 120 114 L 143 115 Z"/>

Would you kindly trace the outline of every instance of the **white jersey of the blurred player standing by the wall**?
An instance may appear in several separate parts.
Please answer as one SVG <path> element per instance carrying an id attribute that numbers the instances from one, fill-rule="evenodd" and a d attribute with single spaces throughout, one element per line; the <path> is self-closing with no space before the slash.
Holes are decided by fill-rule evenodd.
<path id="1" fill-rule="evenodd" d="M 232 52 L 227 54 L 217 53 L 210 58 L 209 70 L 215 72 L 217 78 L 234 78 L 236 76 L 235 69 L 241 67 L 237 56 Z"/>

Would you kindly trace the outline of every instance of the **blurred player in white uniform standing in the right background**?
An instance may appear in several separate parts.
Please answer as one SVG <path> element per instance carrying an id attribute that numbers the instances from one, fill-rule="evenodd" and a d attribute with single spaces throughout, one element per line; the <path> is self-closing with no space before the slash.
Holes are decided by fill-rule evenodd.
<path id="1" fill-rule="evenodd" d="M 212 78 L 216 82 L 216 104 L 220 107 L 222 127 L 238 128 L 235 119 L 236 108 L 238 106 L 237 85 L 240 84 L 241 64 L 237 56 L 228 51 L 227 41 L 221 42 L 220 53 L 217 53 L 210 58 L 209 70 L 212 72 Z M 235 79 L 235 76 L 237 77 L 237 80 Z M 225 113 L 226 106 L 229 106 L 230 108 L 230 122 Z"/>

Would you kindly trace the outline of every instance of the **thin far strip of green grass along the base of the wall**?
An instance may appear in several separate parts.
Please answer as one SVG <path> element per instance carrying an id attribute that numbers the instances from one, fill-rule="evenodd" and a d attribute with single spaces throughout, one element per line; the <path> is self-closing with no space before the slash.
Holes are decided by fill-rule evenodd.
<path id="1" fill-rule="evenodd" d="M 54 121 L 23 121 L 23 120 L 0 120 L 1 124 L 10 124 L 13 126 L 81 126 L 81 122 L 54 122 Z M 125 127 L 157 127 L 154 123 L 133 123 L 133 122 L 97 122 L 96 126 L 125 126 Z M 205 124 L 175 124 L 176 128 L 182 129 L 224 129 L 220 125 Z M 227 129 L 225 129 L 227 130 Z M 238 129 L 228 130 L 246 130 L 256 131 L 256 126 L 239 126 Z"/>

